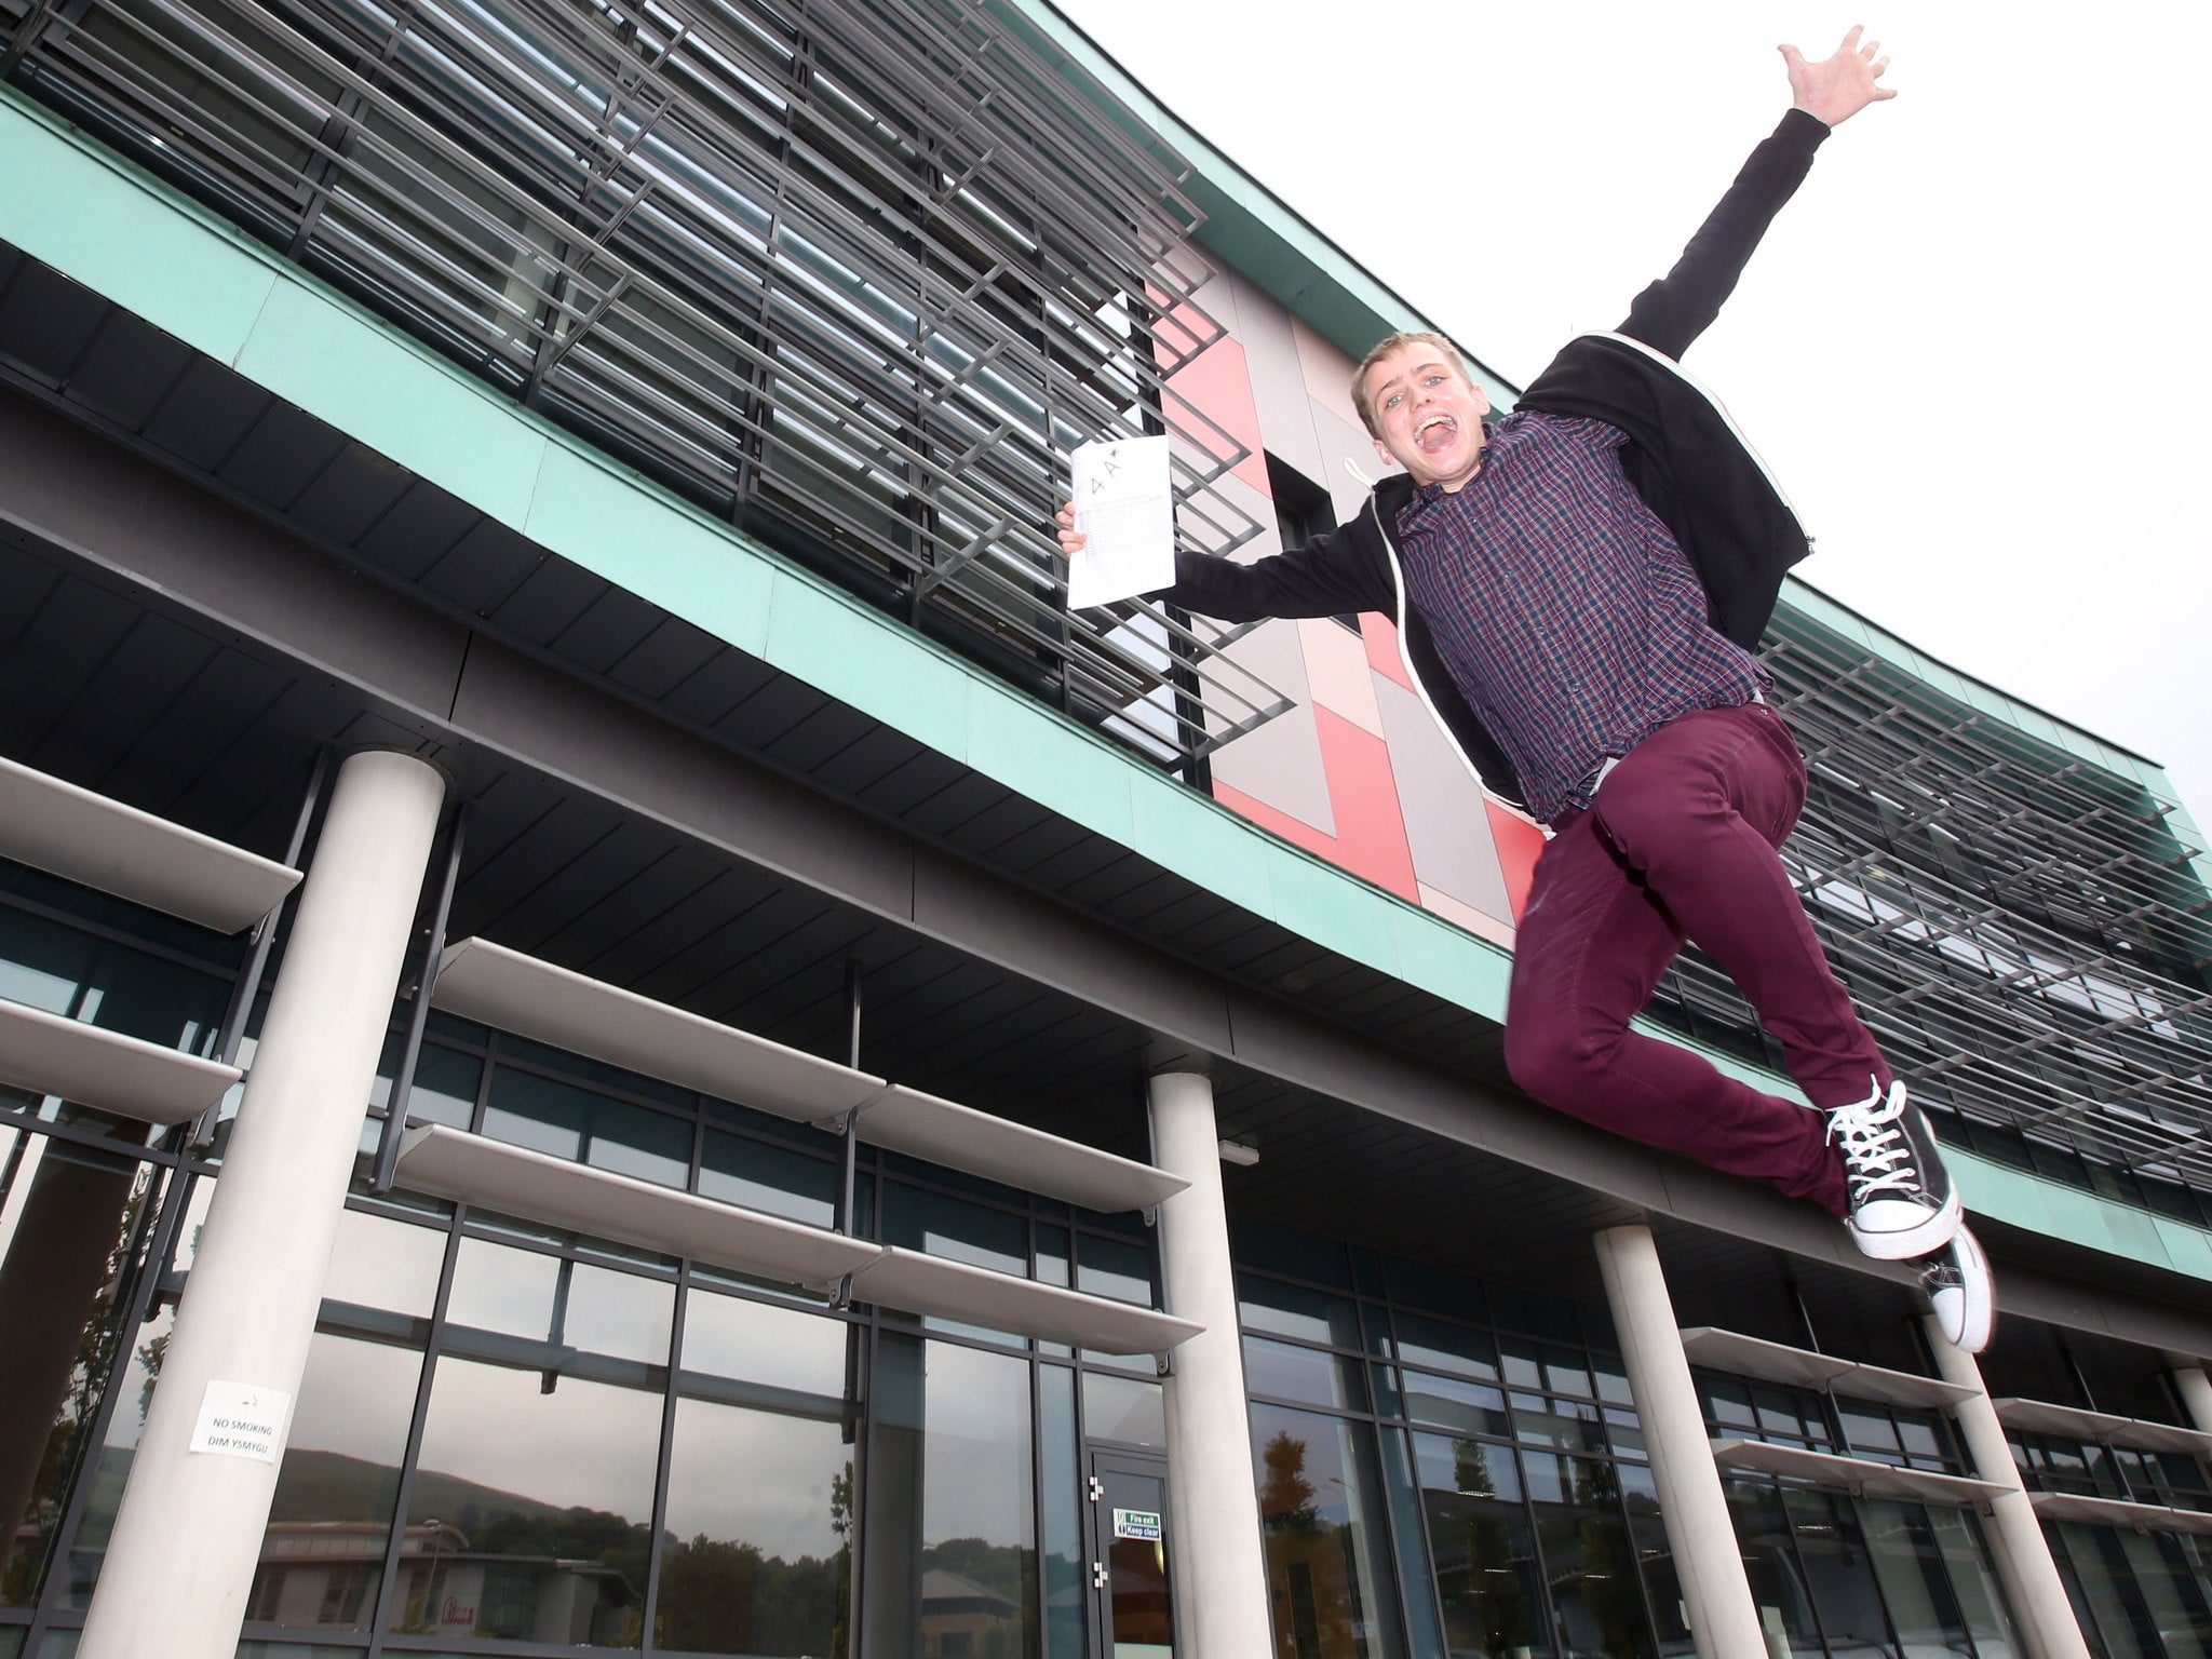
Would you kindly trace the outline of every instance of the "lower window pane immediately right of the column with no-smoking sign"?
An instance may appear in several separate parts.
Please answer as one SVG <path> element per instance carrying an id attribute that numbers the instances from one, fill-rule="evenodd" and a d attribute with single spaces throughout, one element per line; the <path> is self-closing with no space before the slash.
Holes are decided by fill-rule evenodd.
<path id="1" fill-rule="evenodd" d="M 385 1575 L 422 1354 L 319 1332 L 248 1593 L 248 1617 L 365 1630 Z"/>

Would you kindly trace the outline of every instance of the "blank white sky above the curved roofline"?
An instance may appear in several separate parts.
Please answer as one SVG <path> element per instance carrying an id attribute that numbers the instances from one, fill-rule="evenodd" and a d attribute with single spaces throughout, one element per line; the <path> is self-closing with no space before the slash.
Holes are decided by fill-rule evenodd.
<path id="1" fill-rule="evenodd" d="M 1161 104 L 1513 383 L 1613 327 L 1787 108 L 1803 0 L 1057 0 Z M 1305 18 L 1314 22 L 1303 22 Z M 2212 7 L 1887 0 L 1898 97 L 1820 148 L 1683 365 L 1816 586 L 2161 761 L 2212 818 Z"/>

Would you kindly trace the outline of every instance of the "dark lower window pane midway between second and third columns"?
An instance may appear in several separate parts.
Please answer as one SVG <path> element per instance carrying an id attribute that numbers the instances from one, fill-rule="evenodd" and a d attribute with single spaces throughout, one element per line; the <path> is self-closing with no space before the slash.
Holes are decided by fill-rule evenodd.
<path id="1" fill-rule="evenodd" d="M 1548 1652 L 1544 1573 L 1513 1451 L 1418 1433 L 1413 1469 L 1451 1652 Z"/>

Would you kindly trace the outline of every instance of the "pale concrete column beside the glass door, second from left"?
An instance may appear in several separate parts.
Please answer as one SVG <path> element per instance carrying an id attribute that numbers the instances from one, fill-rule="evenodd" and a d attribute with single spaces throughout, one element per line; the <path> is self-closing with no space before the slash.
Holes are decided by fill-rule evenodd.
<path id="1" fill-rule="evenodd" d="M 1150 1095 L 1152 1157 L 1190 1181 L 1159 1206 L 1168 1312 L 1206 1325 L 1175 1349 L 1166 1385 L 1177 1646 L 1190 1659 L 1272 1659 L 1214 1086 L 1177 1071 Z"/>

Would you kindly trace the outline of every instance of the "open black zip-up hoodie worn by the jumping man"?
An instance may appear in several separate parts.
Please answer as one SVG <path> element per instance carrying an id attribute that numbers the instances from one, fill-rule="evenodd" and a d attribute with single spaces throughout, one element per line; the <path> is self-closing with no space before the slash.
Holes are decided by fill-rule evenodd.
<path id="1" fill-rule="evenodd" d="M 1747 650 L 1759 648 L 1774 615 L 1783 573 L 1812 551 L 1812 542 L 1728 411 L 1674 358 L 1721 314 L 1745 261 L 1781 206 L 1796 195 L 1827 133 L 1814 115 L 1783 115 L 1683 248 L 1674 270 L 1637 294 L 1619 332 L 1568 341 L 1515 405 L 1590 416 L 1628 434 L 1619 451 L 1628 482 L 1674 533 L 1705 584 L 1712 626 Z M 1150 597 L 1221 622 L 1349 611 L 1394 617 L 1413 684 L 1475 781 L 1511 805 L 1526 805 L 1513 763 L 1460 695 L 1427 619 L 1407 604 L 1398 509 L 1411 498 L 1413 480 L 1394 473 L 1376 484 L 1349 524 L 1252 564 L 1179 551 L 1175 586 Z"/>

